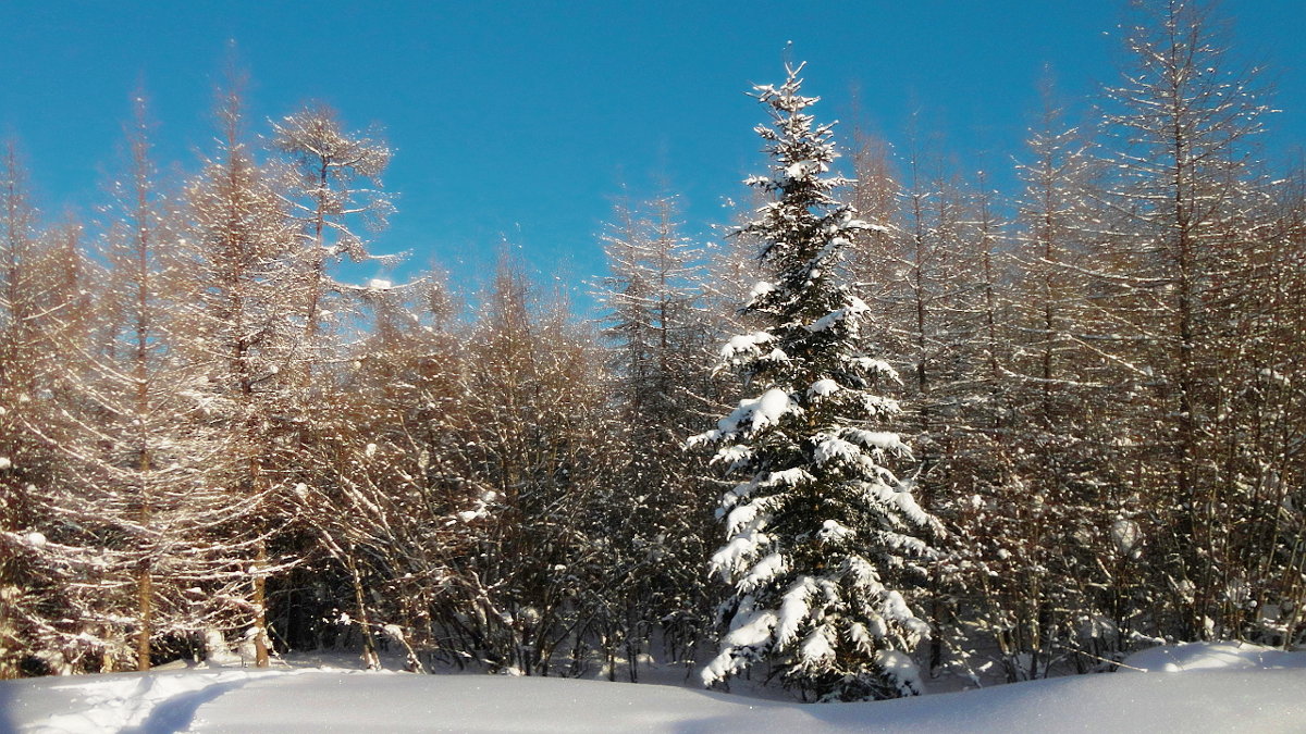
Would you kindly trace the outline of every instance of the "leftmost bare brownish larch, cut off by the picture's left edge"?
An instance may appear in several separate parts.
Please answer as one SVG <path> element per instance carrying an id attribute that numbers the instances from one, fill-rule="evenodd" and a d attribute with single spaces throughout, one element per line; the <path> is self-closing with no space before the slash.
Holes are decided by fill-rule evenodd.
<path id="1" fill-rule="evenodd" d="M 81 227 L 40 230 L 26 171 L 0 158 L 0 678 L 99 667 L 97 613 L 116 558 L 65 445 L 81 397 L 86 261 Z M 111 667 L 111 663 L 110 663 Z"/>

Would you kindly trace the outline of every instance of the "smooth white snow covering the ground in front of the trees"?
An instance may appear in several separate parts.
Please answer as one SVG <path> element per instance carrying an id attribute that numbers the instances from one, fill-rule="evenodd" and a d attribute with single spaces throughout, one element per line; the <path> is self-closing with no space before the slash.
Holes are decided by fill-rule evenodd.
<path id="1" fill-rule="evenodd" d="M 1306 653 L 1158 648 L 1122 671 L 866 704 L 677 686 L 191 669 L 0 683 L 0 731 L 1306 731 Z"/>

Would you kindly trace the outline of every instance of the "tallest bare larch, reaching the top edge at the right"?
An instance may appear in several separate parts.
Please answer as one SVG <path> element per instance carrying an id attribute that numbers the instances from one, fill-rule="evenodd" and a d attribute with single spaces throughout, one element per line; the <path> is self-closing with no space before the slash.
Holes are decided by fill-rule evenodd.
<path id="1" fill-rule="evenodd" d="M 1132 67 L 1109 91 L 1106 135 L 1115 170 L 1107 200 L 1119 217 L 1105 238 L 1114 265 L 1113 316 L 1124 362 L 1148 410 L 1135 447 L 1147 460 L 1130 482 L 1149 504 L 1153 588 L 1181 639 L 1237 633 L 1246 582 L 1230 566 L 1228 508 L 1246 509 L 1226 460 L 1243 451 L 1230 396 L 1245 367 L 1234 337 L 1258 219 L 1252 138 L 1268 111 L 1254 72 L 1233 68 L 1224 26 L 1196 0 L 1139 5 Z M 1234 594 L 1238 596 L 1238 594 Z"/>

